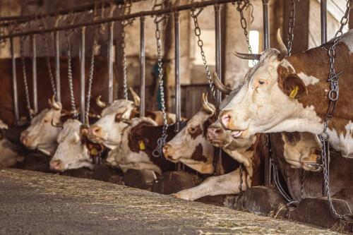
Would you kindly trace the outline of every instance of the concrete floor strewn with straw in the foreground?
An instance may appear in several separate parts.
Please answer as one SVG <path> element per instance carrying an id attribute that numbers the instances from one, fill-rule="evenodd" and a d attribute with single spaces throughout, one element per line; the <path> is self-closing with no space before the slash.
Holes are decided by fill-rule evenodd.
<path id="1" fill-rule="evenodd" d="M 337 234 L 136 188 L 0 171 L 0 234 Z"/>

